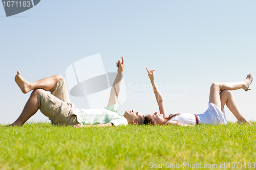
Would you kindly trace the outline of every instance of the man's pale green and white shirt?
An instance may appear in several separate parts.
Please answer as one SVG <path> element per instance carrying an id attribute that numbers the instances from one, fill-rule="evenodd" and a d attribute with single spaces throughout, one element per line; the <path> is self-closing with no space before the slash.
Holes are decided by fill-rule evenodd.
<path id="1" fill-rule="evenodd" d="M 113 123 L 115 126 L 128 125 L 127 119 L 117 113 L 116 104 L 105 109 L 76 109 L 77 121 L 81 125 Z"/>

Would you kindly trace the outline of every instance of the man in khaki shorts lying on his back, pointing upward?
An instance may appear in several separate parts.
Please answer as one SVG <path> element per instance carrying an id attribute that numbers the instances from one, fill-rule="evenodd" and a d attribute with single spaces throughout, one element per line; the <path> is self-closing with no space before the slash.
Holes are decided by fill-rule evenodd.
<path id="1" fill-rule="evenodd" d="M 65 79 L 60 75 L 55 75 L 37 82 L 28 82 L 17 71 L 15 82 L 23 93 L 31 90 L 31 96 L 18 119 L 10 126 L 23 126 L 27 120 L 34 115 L 38 109 L 51 120 L 53 125 L 73 127 L 107 127 L 127 124 L 139 124 L 144 122 L 144 115 L 132 111 L 126 111 L 124 115 L 117 114 L 117 98 L 120 92 L 121 79 L 124 68 L 124 60 L 116 63 L 117 76 L 113 83 L 109 104 L 105 109 L 76 109 L 70 103 L 69 94 Z M 48 93 L 47 91 L 50 91 Z"/>

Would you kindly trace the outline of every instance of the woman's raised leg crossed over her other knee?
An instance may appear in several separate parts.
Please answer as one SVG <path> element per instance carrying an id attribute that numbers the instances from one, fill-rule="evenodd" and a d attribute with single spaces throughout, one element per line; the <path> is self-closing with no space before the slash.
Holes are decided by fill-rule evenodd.
<path id="1" fill-rule="evenodd" d="M 250 75 L 251 76 L 251 75 Z M 249 79 L 245 79 L 242 82 L 238 83 L 212 83 L 210 87 L 210 96 L 209 102 L 215 104 L 218 108 L 221 109 L 221 99 L 220 99 L 220 91 L 229 89 L 229 90 L 237 90 L 244 89 L 248 84 Z"/>

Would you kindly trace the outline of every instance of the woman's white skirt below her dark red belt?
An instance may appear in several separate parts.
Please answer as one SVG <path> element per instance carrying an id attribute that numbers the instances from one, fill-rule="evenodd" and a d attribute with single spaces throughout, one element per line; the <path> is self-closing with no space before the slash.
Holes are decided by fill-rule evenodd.
<path id="1" fill-rule="evenodd" d="M 199 124 L 226 125 L 225 111 L 221 111 L 215 104 L 208 103 L 209 107 L 203 114 L 197 114 Z"/>

